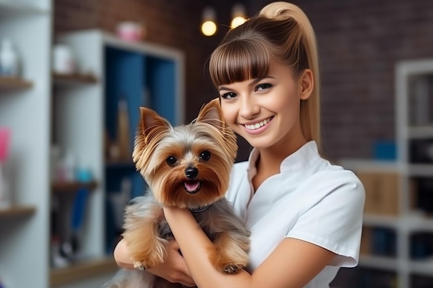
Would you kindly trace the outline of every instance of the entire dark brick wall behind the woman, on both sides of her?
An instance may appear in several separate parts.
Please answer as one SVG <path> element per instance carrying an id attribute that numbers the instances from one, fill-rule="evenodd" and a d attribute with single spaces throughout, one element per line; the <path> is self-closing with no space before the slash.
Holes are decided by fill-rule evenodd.
<path id="1" fill-rule="evenodd" d="M 205 2 L 205 3 L 203 3 Z M 269 1 L 249 0 L 254 15 Z M 216 96 L 205 63 L 230 21 L 232 1 L 55 0 L 55 33 L 83 28 L 113 31 L 118 21 L 144 21 L 147 40 L 186 55 L 186 115 Z M 326 155 L 372 157 L 376 140 L 393 140 L 394 65 L 433 57 L 430 0 L 300 0 L 317 34 L 322 75 L 322 133 Z M 204 6 L 216 8 L 216 37 L 199 32 Z M 248 155 L 240 141 L 239 159 Z"/>

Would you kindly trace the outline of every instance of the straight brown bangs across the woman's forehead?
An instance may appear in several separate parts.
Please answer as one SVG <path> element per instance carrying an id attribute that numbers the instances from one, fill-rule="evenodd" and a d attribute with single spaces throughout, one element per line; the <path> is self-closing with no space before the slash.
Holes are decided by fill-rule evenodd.
<path id="1" fill-rule="evenodd" d="M 270 52 L 260 41 L 237 39 L 219 46 L 209 61 L 210 77 L 216 87 L 264 77 L 268 74 Z"/>

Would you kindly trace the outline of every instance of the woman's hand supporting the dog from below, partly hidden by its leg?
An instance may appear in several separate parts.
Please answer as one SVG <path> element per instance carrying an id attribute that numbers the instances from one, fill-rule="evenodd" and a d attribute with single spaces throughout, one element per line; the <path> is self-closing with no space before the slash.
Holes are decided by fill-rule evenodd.
<path id="1" fill-rule="evenodd" d="M 179 246 L 176 240 L 170 241 L 167 245 L 167 257 L 165 258 L 165 261 L 157 267 L 147 269 L 146 271 L 164 278 L 169 282 L 181 283 L 187 287 L 192 287 L 195 285 L 194 280 L 191 278 L 185 260 L 178 251 Z M 120 240 L 116 245 L 116 249 L 114 249 L 114 259 L 119 267 L 133 269 L 133 263 L 131 261 L 131 256 L 129 256 L 125 240 Z"/>

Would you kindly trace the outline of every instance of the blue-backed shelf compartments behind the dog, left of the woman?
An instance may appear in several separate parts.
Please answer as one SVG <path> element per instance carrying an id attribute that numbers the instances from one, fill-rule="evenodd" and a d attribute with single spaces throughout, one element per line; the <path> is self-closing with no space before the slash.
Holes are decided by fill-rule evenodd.
<path id="1" fill-rule="evenodd" d="M 104 123 L 107 135 L 111 139 L 116 139 L 118 136 L 116 131 L 118 103 L 121 99 L 127 102 L 131 151 L 133 151 L 136 128 L 140 121 L 140 106 L 150 107 L 172 124 L 178 124 L 176 123 L 178 119 L 176 87 L 179 80 L 176 73 L 178 71 L 176 59 L 147 54 L 137 49 L 106 46 L 104 63 Z M 107 162 L 105 166 L 107 253 L 111 253 L 120 233 L 120 227 L 116 227 L 116 220 L 113 218 L 113 203 L 109 201 L 108 196 L 109 193 L 120 193 L 121 183 L 125 177 L 131 181 L 130 198 L 145 193 L 145 181 L 136 171 L 132 160 Z"/>

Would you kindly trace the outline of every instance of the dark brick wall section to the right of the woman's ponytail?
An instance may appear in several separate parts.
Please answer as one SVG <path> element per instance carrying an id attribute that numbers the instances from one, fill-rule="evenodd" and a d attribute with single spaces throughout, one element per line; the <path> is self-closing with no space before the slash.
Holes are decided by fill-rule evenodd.
<path id="1" fill-rule="evenodd" d="M 251 0 L 258 10 L 268 1 Z M 299 0 L 319 45 L 322 133 L 331 158 L 373 157 L 394 140 L 394 66 L 433 57 L 429 0 Z"/>

